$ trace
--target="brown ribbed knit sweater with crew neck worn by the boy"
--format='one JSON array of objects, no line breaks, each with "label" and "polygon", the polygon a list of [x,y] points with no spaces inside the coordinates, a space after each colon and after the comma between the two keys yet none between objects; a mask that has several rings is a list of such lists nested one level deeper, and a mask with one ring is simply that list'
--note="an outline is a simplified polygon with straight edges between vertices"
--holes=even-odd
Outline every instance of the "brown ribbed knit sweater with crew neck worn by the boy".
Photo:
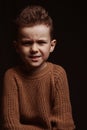
[{"label": "brown ribbed knit sweater with crew neck worn by the boy", "polygon": [[47,62],[32,74],[15,67],[4,76],[2,130],[73,130],[65,70]]}]

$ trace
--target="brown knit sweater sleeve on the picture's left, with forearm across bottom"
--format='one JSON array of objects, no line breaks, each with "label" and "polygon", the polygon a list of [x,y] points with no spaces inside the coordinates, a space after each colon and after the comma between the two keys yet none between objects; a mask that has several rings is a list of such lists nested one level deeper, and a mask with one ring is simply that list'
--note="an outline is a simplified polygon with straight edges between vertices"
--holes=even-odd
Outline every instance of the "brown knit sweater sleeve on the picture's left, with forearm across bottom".
[{"label": "brown knit sweater sleeve on the picture's left, with forearm across bottom", "polygon": [[0,130],[42,130],[20,122],[18,88],[14,74],[7,71],[4,76],[2,98],[2,126]]}]

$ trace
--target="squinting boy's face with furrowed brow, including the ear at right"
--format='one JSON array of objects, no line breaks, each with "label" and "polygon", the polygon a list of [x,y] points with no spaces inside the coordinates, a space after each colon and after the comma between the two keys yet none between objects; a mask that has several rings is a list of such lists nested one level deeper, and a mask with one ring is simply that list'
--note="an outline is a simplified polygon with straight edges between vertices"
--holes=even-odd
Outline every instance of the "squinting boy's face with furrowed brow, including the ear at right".
[{"label": "squinting boy's face with furrowed brow, including the ear at right", "polygon": [[50,28],[46,25],[21,27],[16,50],[28,67],[35,68],[45,64],[55,44],[56,40],[51,41]]}]

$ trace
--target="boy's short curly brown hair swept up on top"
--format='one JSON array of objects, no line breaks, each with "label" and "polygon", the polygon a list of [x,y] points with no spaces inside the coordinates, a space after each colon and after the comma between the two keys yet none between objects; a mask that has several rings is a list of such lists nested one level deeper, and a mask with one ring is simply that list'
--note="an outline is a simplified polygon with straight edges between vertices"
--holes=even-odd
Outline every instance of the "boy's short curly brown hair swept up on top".
[{"label": "boy's short curly brown hair swept up on top", "polygon": [[38,24],[46,25],[50,28],[50,36],[53,38],[53,21],[48,12],[39,5],[31,5],[24,8],[16,18],[16,31],[20,27],[31,27]]}]

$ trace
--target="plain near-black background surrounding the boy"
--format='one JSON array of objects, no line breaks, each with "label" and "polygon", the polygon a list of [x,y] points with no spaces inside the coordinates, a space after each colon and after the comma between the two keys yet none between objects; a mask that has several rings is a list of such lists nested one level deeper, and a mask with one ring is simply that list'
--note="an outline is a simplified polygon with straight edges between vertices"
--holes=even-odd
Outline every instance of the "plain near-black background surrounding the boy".
[{"label": "plain near-black background surrounding the boy", "polygon": [[73,0],[0,1],[0,95],[4,72],[16,63],[12,47],[13,21],[28,4],[44,6],[54,20],[57,39],[49,61],[62,65],[68,76],[76,130],[86,130],[86,3]]}]

